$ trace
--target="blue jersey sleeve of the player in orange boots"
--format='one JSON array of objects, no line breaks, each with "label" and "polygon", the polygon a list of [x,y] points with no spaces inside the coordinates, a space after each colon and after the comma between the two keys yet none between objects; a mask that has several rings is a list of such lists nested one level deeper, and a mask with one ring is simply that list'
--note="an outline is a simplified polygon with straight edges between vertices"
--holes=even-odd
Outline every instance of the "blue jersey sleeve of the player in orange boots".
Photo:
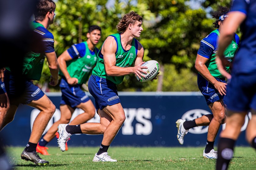
[{"label": "blue jersey sleeve of the player in orange boots", "polygon": [[[85,44],[83,42],[81,42],[79,44],[72,45],[69,49],[67,49],[67,51],[72,59],[78,59],[85,55],[86,47],[85,47]],[[89,51],[90,51],[91,55],[95,54],[94,51],[91,51],[91,50],[89,50]],[[97,51],[98,51],[98,49],[97,49]]]}]

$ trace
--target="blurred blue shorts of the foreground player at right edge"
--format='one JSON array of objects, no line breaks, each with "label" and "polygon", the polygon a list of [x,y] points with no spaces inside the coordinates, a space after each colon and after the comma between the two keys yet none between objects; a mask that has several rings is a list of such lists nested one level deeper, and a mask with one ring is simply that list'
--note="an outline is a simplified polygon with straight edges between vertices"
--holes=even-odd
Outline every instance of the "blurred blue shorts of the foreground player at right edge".
[{"label": "blurred blue shorts of the foreground player at right edge", "polygon": [[256,74],[232,75],[227,88],[227,108],[244,112],[256,110]]}]

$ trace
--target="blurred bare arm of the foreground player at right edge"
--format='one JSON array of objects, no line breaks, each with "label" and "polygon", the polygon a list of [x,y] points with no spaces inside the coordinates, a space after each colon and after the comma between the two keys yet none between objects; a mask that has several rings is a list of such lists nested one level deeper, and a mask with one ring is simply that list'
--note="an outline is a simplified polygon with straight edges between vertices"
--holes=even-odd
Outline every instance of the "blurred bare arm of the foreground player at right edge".
[{"label": "blurred bare arm of the foreground player at right edge", "polygon": [[229,17],[226,19],[219,37],[219,49],[217,52],[216,63],[220,73],[227,79],[230,79],[231,75],[227,73],[224,69],[227,61],[224,58],[223,53],[226,47],[229,45],[230,41],[232,40],[234,32],[236,32],[237,28],[244,21],[245,18],[246,15],[243,12],[229,12]]}]

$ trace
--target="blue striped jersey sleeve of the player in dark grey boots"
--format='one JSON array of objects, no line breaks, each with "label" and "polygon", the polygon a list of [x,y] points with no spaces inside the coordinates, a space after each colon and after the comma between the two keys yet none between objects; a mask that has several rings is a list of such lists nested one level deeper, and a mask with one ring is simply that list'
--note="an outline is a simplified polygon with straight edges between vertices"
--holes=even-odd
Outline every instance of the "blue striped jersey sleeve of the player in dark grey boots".
[{"label": "blue striped jersey sleeve of the player in dark grey boots", "polygon": [[[44,53],[54,52],[54,37],[51,32],[49,32],[46,28],[40,26],[34,29],[34,33],[41,36],[42,43],[44,46]],[[34,50],[32,49],[32,51],[35,53],[39,52],[37,49],[34,49]]]}]

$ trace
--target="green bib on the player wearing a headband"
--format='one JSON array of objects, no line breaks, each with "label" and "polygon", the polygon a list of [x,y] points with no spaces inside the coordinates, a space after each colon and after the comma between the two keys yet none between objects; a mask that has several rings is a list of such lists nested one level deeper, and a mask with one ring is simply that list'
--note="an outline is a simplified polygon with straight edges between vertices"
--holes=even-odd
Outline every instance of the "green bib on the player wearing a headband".
[{"label": "green bib on the player wearing a headband", "polygon": [[[218,36],[220,35],[217,29],[212,32],[215,32]],[[229,73],[230,63],[233,61],[233,57],[237,49],[238,49],[238,45],[236,44],[236,40],[233,38],[232,42],[229,44],[229,46],[227,46],[226,50],[224,51],[225,58],[229,61],[229,65],[226,66],[226,71],[228,73]],[[215,51],[215,53],[212,54],[212,56],[205,63],[205,65],[213,77],[222,78],[223,76],[219,72],[216,61],[215,61],[216,52],[217,51]]]}]

